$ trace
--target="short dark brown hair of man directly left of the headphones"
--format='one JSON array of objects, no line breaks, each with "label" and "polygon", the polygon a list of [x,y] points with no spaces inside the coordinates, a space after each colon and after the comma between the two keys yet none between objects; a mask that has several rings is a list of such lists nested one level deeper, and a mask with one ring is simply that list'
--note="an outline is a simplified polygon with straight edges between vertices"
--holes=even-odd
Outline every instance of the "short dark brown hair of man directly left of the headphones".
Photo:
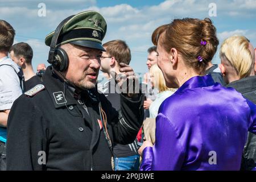
[{"label": "short dark brown hair of man directly left of the headphones", "polygon": [[33,50],[27,43],[16,43],[10,48],[10,52],[13,51],[15,57],[24,57],[27,64],[31,64],[33,58]]}]

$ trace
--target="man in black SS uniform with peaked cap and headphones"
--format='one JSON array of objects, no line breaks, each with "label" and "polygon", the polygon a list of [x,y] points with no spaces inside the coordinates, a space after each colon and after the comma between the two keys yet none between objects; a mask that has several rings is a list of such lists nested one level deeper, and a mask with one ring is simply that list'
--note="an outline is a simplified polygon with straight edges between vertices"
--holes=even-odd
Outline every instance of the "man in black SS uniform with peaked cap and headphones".
[{"label": "man in black SS uniform with peaked cap and headphones", "polygon": [[[118,113],[97,92],[105,34],[105,19],[85,11],[47,35],[52,66],[10,112],[7,170],[112,170],[112,143],[134,141],[143,121],[143,94],[122,93]],[[137,79],[129,66],[122,72],[129,82]]]}]

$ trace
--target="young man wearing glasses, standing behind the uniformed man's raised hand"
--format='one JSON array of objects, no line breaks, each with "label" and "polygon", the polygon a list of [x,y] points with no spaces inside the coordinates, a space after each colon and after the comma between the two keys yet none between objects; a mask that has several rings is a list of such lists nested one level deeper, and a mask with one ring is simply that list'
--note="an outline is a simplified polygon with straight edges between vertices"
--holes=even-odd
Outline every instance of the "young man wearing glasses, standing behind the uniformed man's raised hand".
[{"label": "young man wearing glasses, standing behind the uniformed man's raised hand", "polygon": [[[106,49],[106,52],[102,53],[100,69],[110,77],[104,84],[104,94],[111,102],[112,106],[119,111],[121,109],[120,90],[115,89],[115,80],[110,75],[110,72],[114,71],[121,76],[122,73],[119,70],[121,69],[122,64],[129,65],[131,61],[131,52],[130,48],[123,40],[109,41],[104,43],[103,47]],[[125,145],[114,143],[113,151],[115,155],[115,171],[138,171],[139,154],[137,139],[135,139],[133,143]]]}]

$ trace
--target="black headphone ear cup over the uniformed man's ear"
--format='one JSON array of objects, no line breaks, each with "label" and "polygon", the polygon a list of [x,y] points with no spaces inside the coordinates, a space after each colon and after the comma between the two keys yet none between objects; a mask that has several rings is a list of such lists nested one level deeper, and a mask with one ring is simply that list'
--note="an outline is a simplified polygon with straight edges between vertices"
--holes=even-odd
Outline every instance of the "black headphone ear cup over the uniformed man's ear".
[{"label": "black headphone ear cup over the uniformed man's ear", "polygon": [[65,71],[68,68],[68,55],[67,52],[64,51],[62,48],[56,48],[55,49],[55,55],[54,55],[54,63],[53,67],[59,71]]}]

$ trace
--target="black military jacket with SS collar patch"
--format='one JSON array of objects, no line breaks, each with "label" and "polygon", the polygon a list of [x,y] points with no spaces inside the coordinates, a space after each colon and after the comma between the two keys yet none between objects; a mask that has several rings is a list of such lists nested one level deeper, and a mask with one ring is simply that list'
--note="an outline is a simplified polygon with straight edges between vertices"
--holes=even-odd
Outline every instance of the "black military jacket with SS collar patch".
[{"label": "black military jacket with SS collar patch", "polygon": [[128,144],[143,122],[143,94],[133,99],[121,94],[118,113],[104,94],[85,90],[88,114],[51,67],[43,85],[44,90],[32,97],[23,94],[11,108],[7,170],[112,170],[112,152],[98,120],[102,120],[99,103],[112,143]]}]

